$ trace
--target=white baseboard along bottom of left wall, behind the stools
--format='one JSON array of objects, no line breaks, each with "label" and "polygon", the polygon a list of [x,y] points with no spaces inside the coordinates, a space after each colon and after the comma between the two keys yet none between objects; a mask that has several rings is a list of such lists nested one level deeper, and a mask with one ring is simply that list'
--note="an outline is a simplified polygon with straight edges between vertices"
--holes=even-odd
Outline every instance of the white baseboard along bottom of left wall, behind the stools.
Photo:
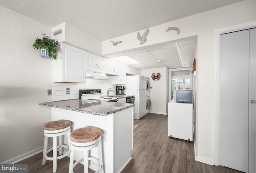
[{"label": "white baseboard along bottom of left wall, behind the stools", "polygon": [[[49,143],[49,144],[48,144],[48,148],[51,147],[51,146],[52,146],[52,144]],[[14,163],[17,163],[17,162],[19,162],[19,161],[22,161],[22,160],[28,158],[28,157],[31,157],[31,156],[33,156],[33,155],[36,155],[36,154],[42,152],[43,149],[44,149],[43,146],[42,146],[42,147],[39,147],[39,148],[37,148],[37,149],[34,149],[34,150],[32,150],[32,151],[29,151],[29,152],[27,152],[27,153],[24,153],[24,154],[22,154],[22,155],[19,155],[19,156],[17,156],[17,157],[14,157],[14,158],[12,158],[12,159],[10,159],[10,160],[4,161],[4,162],[2,162],[1,164],[14,164]]]}]

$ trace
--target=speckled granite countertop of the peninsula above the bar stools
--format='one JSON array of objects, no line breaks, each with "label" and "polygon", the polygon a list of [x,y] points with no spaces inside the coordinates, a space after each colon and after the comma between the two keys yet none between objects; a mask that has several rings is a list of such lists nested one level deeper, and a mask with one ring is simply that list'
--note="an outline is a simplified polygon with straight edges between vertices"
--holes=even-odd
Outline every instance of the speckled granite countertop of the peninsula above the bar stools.
[{"label": "speckled granite countertop of the peninsula above the bar stools", "polygon": [[39,105],[66,109],[70,111],[89,113],[92,115],[105,116],[124,109],[133,107],[131,103],[116,103],[111,101],[88,101],[84,99],[72,99],[39,103]]}]

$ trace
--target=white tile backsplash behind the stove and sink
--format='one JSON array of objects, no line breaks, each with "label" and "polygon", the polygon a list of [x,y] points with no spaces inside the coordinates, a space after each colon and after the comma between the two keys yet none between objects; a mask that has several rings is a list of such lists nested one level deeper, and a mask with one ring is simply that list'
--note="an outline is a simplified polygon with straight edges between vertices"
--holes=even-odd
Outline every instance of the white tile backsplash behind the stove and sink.
[{"label": "white tile backsplash behind the stove and sink", "polygon": [[[67,88],[70,88],[70,94],[66,94]],[[116,91],[116,85],[112,85],[111,76],[104,80],[86,79],[86,83],[53,83],[52,101],[79,99],[79,89],[101,89],[103,96],[107,95],[109,88]],[[116,95],[116,93],[111,91],[109,95]]]}]

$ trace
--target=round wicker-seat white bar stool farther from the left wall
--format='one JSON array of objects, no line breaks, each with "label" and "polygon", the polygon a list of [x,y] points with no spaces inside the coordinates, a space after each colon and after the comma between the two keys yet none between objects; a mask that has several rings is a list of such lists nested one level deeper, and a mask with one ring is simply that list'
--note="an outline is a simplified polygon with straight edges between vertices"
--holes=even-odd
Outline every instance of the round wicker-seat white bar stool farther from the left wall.
[{"label": "round wicker-seat white bar stool farther from the left wall", "polygon": [[[84,127],[72,131],[70,134],[70,163],[69,173],[74,173],[73,169],[78,163],[84,161],[84,173],[88,173],[88,160],[96,161],[98,169],[95,173],[104,173],[102,161],[102,147],[101,147],[101,130],[97,127]],[[88,156],[88,151],[98,147],[98,157]],[[84,151],[84,158],[74,163],[74,150]]]}]

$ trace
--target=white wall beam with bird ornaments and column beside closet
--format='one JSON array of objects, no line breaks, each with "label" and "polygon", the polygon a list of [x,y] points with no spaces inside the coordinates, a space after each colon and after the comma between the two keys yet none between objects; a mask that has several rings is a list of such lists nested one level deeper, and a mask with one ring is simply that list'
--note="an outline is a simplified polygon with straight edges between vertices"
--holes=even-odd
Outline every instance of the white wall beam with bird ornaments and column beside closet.
[{"label": "white wall beam with bird ornaments and column beside closet", "polygon": [[[149,28],[147,42],[139,45],[137,32],[111,40],[123,41],[120,46],[102,42],[102,53],[113,54],[127,49],[153,46],[172,40],[198,36],[196,71],[196,145],[197,159],[212,164],[213,159],[213,77],[214,77],[214,29],[256,20],[256,1],[245,0],[201,14],[182,18]],[[180,28],[180,34],[165,32],[170,27]],[[145,28],[146,30],[146,28]],[[144,32],[145,30],[139,31]]]}]

